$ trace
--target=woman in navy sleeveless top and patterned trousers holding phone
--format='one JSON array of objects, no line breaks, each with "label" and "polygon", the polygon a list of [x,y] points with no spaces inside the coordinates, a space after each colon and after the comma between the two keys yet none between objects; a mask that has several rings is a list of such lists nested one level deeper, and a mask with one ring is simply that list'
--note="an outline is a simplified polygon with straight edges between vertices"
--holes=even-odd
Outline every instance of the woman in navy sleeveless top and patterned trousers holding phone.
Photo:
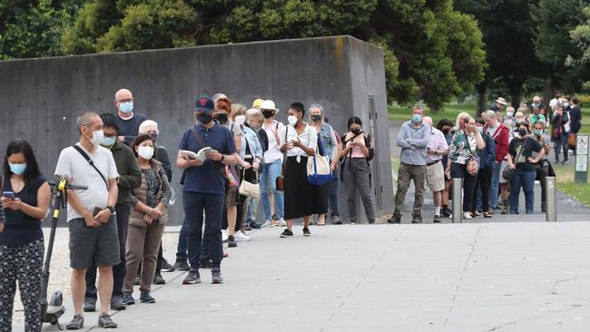
[{"label": "woman in navy sleeveless top and patterned trousers holding phone", "polygon": [[16,140],[8,144],[2,191],[0,200],[5,212],[5,228],[0,231],[0,324],[8,327],[12,324],[18,280],[25,307],[25,331],[40,331],[39,298],[44,254],[41,220],[49,208],[51,190],[39,172],[28,142]]}]

